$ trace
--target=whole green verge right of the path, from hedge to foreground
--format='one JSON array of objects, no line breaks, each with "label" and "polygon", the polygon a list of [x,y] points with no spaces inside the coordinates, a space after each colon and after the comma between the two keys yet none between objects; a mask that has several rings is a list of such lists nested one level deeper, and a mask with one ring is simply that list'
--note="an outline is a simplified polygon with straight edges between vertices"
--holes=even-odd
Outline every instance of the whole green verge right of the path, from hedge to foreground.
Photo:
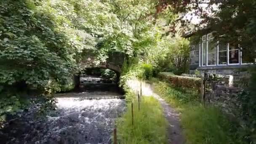
[{"label": "whole green verge right of the path, from hedge to foreground", "polygon": [[153,85],[169,104],[181,112],[187,144],[243,144],[237,139],[234,125],[216,107],[203,107],[191,89],[175,88],[154,80]]}]

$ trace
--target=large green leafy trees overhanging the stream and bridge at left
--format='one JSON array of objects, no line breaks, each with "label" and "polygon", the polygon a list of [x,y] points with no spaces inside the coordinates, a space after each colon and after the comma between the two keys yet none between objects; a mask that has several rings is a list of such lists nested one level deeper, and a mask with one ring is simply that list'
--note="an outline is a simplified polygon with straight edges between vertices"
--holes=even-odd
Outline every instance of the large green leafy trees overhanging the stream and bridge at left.
[{"label": "large green leafy trees overhanging the stream and bridge at left", "polygon": [[53,93],[71,88],[72,75],[80,71],[78,64],[87,49],[96,50],[96,63],[105,61],[111,51],[127,56],[142,53],[155,43],[154,4],[148,0],[2,0],[0,99],[17,102],[1,105],[0,115],[8,109],[17,111],[20,96],[31,89]]}]

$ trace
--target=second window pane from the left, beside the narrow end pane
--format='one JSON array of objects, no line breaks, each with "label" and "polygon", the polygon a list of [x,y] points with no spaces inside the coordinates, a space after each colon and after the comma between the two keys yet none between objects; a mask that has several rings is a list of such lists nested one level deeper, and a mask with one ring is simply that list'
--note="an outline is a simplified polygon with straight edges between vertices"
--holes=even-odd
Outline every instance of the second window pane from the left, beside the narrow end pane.
[{"label": "second window pane from the left, beside the narrow end pane", "polygon": [[213,41],[208,41],[208,65],[216,64],[217,60],[217,47]]}]

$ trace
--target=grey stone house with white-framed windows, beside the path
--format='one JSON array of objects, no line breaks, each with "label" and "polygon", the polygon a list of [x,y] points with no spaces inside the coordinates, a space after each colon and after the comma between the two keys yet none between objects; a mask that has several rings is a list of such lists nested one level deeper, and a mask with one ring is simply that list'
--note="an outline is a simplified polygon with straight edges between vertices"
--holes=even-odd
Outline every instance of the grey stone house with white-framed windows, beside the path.
[{"label": "grey stone house with white-framed windows, beside the path", "polygon": [[[189,39],[192,35],[194,34],[187,33],[183,37]],[[195,74],[197,69],[201,74],[206,72],[229,75],[238,86],[238,83],[244,83],[245,79],[248,79],[246,68],[256,61],[256,59],[248,59],[241,49],[238,45],[221,41],[213,43],[211,33],[203,35],[199,43],[191,45],[189,74]]]}]

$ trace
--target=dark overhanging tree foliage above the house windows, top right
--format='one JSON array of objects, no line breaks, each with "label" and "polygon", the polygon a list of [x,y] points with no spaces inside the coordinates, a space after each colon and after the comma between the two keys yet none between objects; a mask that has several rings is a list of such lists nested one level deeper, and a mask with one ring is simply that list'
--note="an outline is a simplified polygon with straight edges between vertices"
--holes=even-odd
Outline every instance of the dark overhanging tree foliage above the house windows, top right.
[{"label": "dark overhanging tree foliage above the house windows, top right", "polygon": [[[240,45],[246,61],[256,57],[255,0],[161,0],[158,7],[173,7],[179,19],[172,26],[200,35],[213,32],[216,40]],[[173,29],[173,28],[170,28]],[[170,31],[172,32],[172,31]]]}]

